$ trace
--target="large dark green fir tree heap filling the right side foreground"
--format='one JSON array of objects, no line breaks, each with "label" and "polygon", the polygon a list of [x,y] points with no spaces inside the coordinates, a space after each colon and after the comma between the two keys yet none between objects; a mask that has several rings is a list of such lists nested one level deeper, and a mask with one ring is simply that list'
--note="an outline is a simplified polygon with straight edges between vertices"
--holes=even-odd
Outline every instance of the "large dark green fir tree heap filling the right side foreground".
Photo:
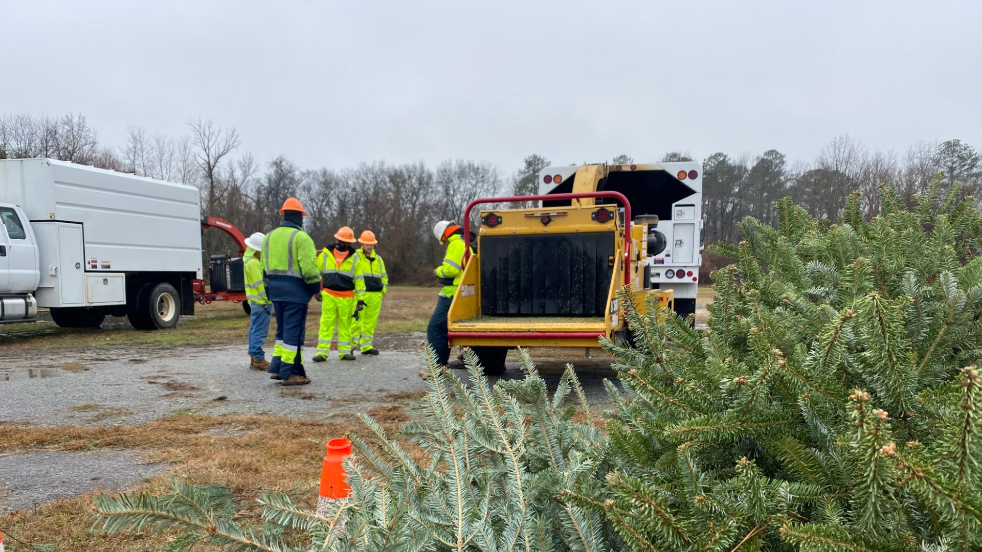
[{"label": "large dark green fir tree heap filling the right side foreground", "polygon": [[977,549],[980,214],[938,190],[831,226],[783,199],[718,248],[708,329],[628,310],[616,467],[578,501],[634,550]]}]

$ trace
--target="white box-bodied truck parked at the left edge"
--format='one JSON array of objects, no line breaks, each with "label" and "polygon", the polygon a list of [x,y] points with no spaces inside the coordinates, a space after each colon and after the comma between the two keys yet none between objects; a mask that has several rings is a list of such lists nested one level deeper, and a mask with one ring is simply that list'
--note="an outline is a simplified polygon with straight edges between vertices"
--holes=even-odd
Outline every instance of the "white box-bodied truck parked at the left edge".
[{"label": "white box-bodied truck parked at the left edge", "polygon": [[0,160],[0,323],[47,307],[59,326],[128,316],[168,328],[194,313],[198,191],[52,159]]}]

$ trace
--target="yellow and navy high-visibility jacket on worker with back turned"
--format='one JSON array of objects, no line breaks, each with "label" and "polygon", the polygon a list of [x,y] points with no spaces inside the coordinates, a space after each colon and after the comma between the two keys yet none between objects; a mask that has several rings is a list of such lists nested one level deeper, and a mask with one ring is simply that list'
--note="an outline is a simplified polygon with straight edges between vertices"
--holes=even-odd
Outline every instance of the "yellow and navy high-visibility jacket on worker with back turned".
[{"label": "yellow and navy high-visibility jacket on worker with back turned", "polygon": [[320,290],[317,248],[296,224],[283,225],[266,234],[259,257],[271,301],[308,303]]}]

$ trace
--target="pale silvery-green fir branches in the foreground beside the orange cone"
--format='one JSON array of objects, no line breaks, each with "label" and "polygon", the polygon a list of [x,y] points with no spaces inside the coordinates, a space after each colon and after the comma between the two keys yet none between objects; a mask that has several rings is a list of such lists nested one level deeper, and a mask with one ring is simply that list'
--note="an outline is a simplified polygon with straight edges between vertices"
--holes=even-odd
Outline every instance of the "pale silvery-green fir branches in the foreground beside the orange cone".
[{"label": "pale silvery-green fir branches in the foreground beside the orange cone", "polygon": [[[464,356],[469,382],[438,365],[432,351],[425,362],[432,374],[425,418],[400,429],[403,439],[396,440],[361,416],[377,438],[369,443],[352,436],[355,454],[346,460],[352,496],[332,516],[264,493],[264,524],[245,528],[232,518],[227,489],[174,479],[163,496],[99,495],[102,528],[177,529],[173,550],[199,543],[276,552],[618,549],[620,538],[602,513],[564,491],[601,493],[601,474],[609,469],[606,437],[592,423],[572,366],[550,396],[524,352],[525,377],[494,385],[472,353]],[[422,454],[401,442],[414,443]]]}]

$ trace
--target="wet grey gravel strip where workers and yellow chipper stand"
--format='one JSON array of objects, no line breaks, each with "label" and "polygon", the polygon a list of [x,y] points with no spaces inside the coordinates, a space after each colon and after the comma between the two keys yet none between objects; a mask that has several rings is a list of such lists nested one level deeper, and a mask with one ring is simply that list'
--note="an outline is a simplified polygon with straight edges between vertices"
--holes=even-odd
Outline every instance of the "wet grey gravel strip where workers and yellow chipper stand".
[{"label": "wet grey gravel strip where workers and yellow chipper stand", "polygon": [[[309,385],[284,388],[251,371],[242,346],[172,348],[99,346],[78,351],[12,352],[0,368],[0,421],[37,425],[136,424],[167,414],[277,414],[329,417],[361,413],[425,391],[412,349],[421,336],[390,338],[383,353],[307,363]],[[393,349],[402,349],[393,350]],[[591,401],[604,402],[609,360],[574,361]],[[552,385],[567,359],[540,357]],[[461,372],[464,373],[464,372]],[[517,362],[504,377],[521,377]]]}]

